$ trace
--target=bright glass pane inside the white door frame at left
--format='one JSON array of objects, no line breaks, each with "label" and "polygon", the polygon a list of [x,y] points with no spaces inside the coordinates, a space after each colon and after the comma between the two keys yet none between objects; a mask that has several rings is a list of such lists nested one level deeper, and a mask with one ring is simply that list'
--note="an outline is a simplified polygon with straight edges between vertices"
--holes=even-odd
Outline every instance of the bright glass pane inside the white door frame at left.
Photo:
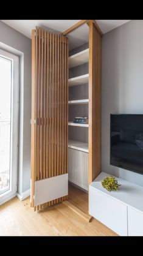
[{"label": "bright glass pane inside the white door frame at left", "polygon": [[0,56],[0,194],[10,188],[12,61]]}]

